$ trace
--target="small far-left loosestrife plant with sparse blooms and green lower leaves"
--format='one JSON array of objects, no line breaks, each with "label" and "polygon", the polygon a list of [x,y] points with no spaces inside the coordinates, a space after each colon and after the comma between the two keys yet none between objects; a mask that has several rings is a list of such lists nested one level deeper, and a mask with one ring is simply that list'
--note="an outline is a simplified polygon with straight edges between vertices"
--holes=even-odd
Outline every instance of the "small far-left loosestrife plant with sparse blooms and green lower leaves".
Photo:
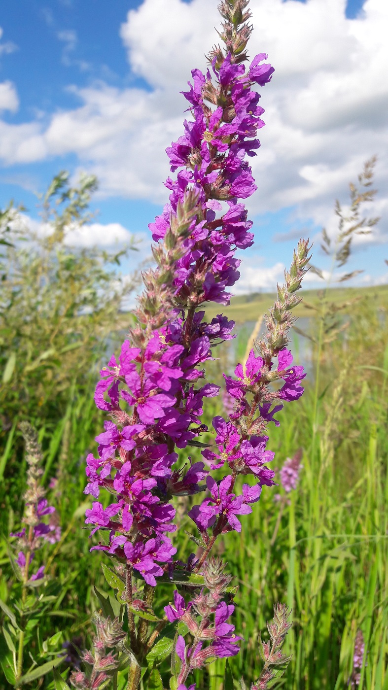
[{"label": "small far-left loosestrife plant with sparse blooms and green lower leaves", "polygon": [[[39,650],[36,649],[36,640],[32,643],[34,628],[39,628],[39,618],[46,613],[48,602],[57,598],[51,594],[46,565],[41,561],[47,551],[44,546],[55,544],[59,540],[61,528],[55,508],[48,504],[46,490],[41,484],[43,456],[37,432],[28,422],[21,422],[20,428],[26,444],[27,489],[23,495],[21,525],[18,531],[10,533],[9,556],[14,578],[9,583],[7,604],[0,600],[0,607],[6,614],[3,635],[10,652],[4,655],[1,665],[10,687],[19,687],[40,678],[64,660],[64,656],[58,656],[55,649],[49,649],[52,644],[57,647],[57,635],[45,640],[43,647],[39,643]],[[44,596],[41,589],[43,586]],[[31,649],[36,653],[35,659],[31,655]],[[53,653],[57,656],[52,664],[41,663],[45,656],[51,660]],[[35,667],[32,677],[29,672],[23,673],[25,658],[28,659],[28,667],[31,660]]]}]

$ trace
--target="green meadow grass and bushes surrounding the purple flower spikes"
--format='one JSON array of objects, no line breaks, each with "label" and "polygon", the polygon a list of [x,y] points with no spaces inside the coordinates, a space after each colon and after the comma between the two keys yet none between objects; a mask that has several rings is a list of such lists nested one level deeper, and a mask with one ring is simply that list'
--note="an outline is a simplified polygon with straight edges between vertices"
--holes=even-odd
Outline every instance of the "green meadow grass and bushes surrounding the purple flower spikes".
[{"label": "green meadow grass and bushes surrounding the purple flower spikes", "polygon": [[[90,617],[101,607],[95,587],[107,591],[101,570],[104,556],[88,552],[90,540],[83,529],[85,509],[91,504],[83,493],[85,458],[95,451],[94,438],[104,420],[93,404],[99,364],[133,322],[132,315],[119,311],[132,285],[117,282],[117,274],[108,268],[109,262],[119,262],[118,255],[75,250],[64,242],[69,218],[81,223],[87,219],[95,181],[84,178],[71,188],[66,176],[58,176],[53,184],[43,199],[52,228],[45,237],[16,230],[14,213],[3,214],[0,687],[13,685],[8,611],[21,589],[8,558],[9,535],[20,522],[26,490],[21,421],[37,428],[43,481],[62,530],[54,547],[44,547],[48,577],[28,617],[25,673],[33,675],[34,664],[58,660],[66,650],[58,669],[68,678],[68,669],[79,664],[78,650],[88,647]],[[286,494],[282,486],[264,486],[253,515],[242,518],[242,533],[230,533],[217,544],[217,552],[235,574],[236,627],[244,635],[240,654],[230,660],[231,670],[233,678],[244,673],[247,684],[257,678],[258,634],[266,639],[265,622],[271,618],[273,602],[280,601],[292,609],[293,619],[287,640],[292,659],[282,687],[347,687],[360,630],[365,663],[359,687],[387,690],[387,286],[339,287],[325,293],[331,303],[348,305],[340,324],[331,329],[334,337],[327,338],[322,313],[306,306],[322,304],[322,293],[303,290],[302,295],[305,304],[295,315],[310,317],[304,328],[311,353],[305,393],[292,410],[284,409],[269,442],[278,469],[301,449],[298,487]],[[225,313],[240,324],[256,321],[272,302],[271,295],[235,297]],[[297,348],[302,337],[293,336]],[[246,340],[246,329],[240,328],[233,342],[236,362],[244,358]],[[230,352],[225,345],[220,359],[211,363],[209,379],[222,384],[221,372],[227,368]],[[223,413],[222,400],[208,400],[208,426],[213,415]],[[204,434],[203,440],[211,441],[211,434]],[[180,452],[185,457],[186,451]],[[191,449],[191,455],[200,460],[200,449]],[[195,497],[177,499],[180,529],[172,538],[180,542],[180,553],[192,550],[185,529],[193,501]],[[170,595],[166,586],[164,604]],[[113,604],[114,598],[109,601]],[[159,670],[167,687],[164,663]],[[197,687],[221,690],[224,668],[225,660],[208,666],[205,675],[195,679]],[[57,688],[58,678],[55,681],[50,672],[27,679],[26,685]],[[119,673],[117,687],[125,682]]]}]

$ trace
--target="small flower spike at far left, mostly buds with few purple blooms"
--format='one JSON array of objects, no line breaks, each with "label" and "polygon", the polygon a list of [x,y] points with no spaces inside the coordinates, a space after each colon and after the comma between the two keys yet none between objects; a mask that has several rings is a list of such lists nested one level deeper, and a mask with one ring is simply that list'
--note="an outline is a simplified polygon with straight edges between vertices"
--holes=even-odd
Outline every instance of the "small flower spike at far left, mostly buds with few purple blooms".
[{"label": "small flower spike at far left, mostly buds with few purple blooms", "polygon": [[[48,505],[45,498],[46,491],[41,486],[43,471],[39,466],[42,455],[35,429],[28,422],[21,422],[21,432],[26,442],[27,489],[23,498],[25,501],[23,524],[18,532],[12,532],[11,537],[17,537],[20,549],[16,564],[19,566],[23,582],[41,580],[45,566],[41,565],[35,573],[30,574],[30,563],[35,552],[44,542],[55,544],[61,535],[61,528],[57,525],[55,508]],[[45,518],[50,515],[48,522]]]}]

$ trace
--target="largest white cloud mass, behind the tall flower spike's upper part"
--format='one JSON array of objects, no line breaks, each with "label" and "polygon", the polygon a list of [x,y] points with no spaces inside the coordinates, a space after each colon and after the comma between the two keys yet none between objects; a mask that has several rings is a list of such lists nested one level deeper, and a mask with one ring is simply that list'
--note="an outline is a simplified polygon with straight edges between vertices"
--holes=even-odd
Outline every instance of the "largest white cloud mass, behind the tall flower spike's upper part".
[{"label": "largest white cloud mass, behind the tall flower spike's upper part", "polygon": [[[295,218],[330,224],[333,198],[375,152],[382,204],[388,188],[388,3],[367,0],[358,19],[345,0],[251,0],[255,31],[250,54],[263,50],[275,66],[262,89],[266,127],[253,159],[258,192],[251,213],[297,206]],[[72,87],[80,105],[48,124],[0,123],[5,164],[75,152],[99,175],[101,193],[163,201],[168,174],[164,149],[182,132],[179,91],[216,41],[214,0],[144,0],[121,28],[132,71],[153,90],[104,82]],[[173,17],[173,21],[172,18]],[[68,50],[77,37],[62,32]],[[374,209],[371,207],[372,213]],[[382,228],[382,229],[381,229]],[[375,237],[385,237],[385,226]]]}]

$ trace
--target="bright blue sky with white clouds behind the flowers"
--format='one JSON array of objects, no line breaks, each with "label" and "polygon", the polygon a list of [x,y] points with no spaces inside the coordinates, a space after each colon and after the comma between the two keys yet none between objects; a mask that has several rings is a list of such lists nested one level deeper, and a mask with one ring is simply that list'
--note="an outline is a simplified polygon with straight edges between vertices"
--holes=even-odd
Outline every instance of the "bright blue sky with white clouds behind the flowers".
[{"label": "bright blue sky with white clouds behind the flowers", "polygon": [[[206,47],[215,40],[216,5],[3,3],[1,206],[12,197],[36,218],[34,192],[44,190],[52,175],[64,168],[72,175],[97,172],[93,208],[99,215],[86,242],[94,237],[106,244],[109,235],[122,241],[128,231],[143,239],[146,255],[147,224],[167,199],[164,148],[182,128],[179,91],[190,69],[204,66]],[[262,92],[266,128],[253,166],[259,190],[249,203],[256,244],[242,264],[242,291],[273,287],[298,233],[318,237],[322,225],[334,232],[333,200],[346,202],[347,184],[363,160],[379,152],[380,190],[388,177],[387,88],[377,73],[379,59],[381,72],[387,57],[385,0],[252,0],[251,6],[260,26],[252,55],[266,50],[276,71]],[[376,237],[362,239],[351,263],[365,268],[364,284],[388,281],[382,262],[382,255],[388,258],[388,204],[384,194],[378,198],[370,209],[382,215]],[[315,261],[324,265],[318,250]]]}]

